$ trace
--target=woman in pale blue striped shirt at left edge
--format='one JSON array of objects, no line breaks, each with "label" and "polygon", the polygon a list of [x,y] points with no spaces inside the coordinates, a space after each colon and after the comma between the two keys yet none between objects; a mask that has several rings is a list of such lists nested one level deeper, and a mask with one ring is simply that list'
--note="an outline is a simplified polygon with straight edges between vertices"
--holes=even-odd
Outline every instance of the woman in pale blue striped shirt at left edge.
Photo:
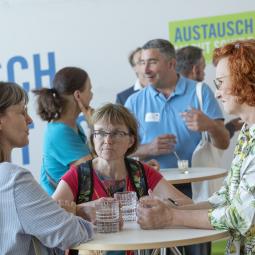
[{"label": "woman in pale blue striped shirt at left edge", "polygon": [[[0,254],[50,254],[93,237],[91,223],[61,209],[32,174],[10,162],[14,148],[28,144],[27,95],[17,84],[0,82]],[[39,241],[39,242],[38,242]]]}]

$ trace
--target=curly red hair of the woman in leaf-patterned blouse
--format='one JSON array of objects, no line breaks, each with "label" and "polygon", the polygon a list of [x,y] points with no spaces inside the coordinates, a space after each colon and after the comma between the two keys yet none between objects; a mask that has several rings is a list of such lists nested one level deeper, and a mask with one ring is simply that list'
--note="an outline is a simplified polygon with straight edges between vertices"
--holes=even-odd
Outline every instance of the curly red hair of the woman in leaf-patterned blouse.
[{"label": "curly red hair of the woman in leaf-patterned blouse", "polygon": [[238,40],[216,48],[213,64],[216,66],[222,58],[228,59],[231,94],[239,104],[255,106],[255,40]]}]

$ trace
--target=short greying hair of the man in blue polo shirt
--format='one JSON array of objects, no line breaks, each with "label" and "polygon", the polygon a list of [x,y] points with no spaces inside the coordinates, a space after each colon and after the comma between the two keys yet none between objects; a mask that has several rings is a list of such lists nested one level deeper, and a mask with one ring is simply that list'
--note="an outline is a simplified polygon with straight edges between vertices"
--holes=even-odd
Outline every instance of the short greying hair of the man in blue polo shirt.
[{"label": "short greying hair of the man in blue polo shirt", "polygon": [[164,39],[153,39],[145,43],[142,47],[143,50],[158,49],[161,54],[166,58],[176,58],[175,49],[172,43]]}]

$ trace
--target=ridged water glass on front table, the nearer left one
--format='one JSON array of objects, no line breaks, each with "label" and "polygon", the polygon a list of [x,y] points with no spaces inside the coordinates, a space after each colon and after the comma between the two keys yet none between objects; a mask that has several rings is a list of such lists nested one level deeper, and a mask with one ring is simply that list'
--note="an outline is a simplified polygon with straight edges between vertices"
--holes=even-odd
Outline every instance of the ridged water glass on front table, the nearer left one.
[{"label": "ridged water glass on front table, the nearer left one", "polygon": [[104,198],[95,204],[96,226],[99,233],[120,231],[120,203],[113,198]]}]

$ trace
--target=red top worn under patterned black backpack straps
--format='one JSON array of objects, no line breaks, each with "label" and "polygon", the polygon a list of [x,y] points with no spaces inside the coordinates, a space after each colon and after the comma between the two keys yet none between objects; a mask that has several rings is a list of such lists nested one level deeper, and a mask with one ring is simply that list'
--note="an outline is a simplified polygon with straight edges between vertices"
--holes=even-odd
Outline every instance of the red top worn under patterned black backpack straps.
[{"label": "red top worn under patterned black backpack straps", "polygon": [[[153,190],[158,182],[163,178],[162,175],[156,171],[154,168],[146,165],[143,163],[144,172],[148,184],[148,189]],[[72,165],[71,168],[66,172],[66,174],[62,177],[62,180],[65,181],[70,189],[72,190],[74,200],[77,199],[78,193],[78,171],[75,165]],[[93,194],[92,200],[96,200],[100,197],[108,197],[103,184],[101,183],[100,179],[98,178],[95,170],[93,169]],[[127,191],[135,191],[129,176],[126,177],[126,190]]]}]

